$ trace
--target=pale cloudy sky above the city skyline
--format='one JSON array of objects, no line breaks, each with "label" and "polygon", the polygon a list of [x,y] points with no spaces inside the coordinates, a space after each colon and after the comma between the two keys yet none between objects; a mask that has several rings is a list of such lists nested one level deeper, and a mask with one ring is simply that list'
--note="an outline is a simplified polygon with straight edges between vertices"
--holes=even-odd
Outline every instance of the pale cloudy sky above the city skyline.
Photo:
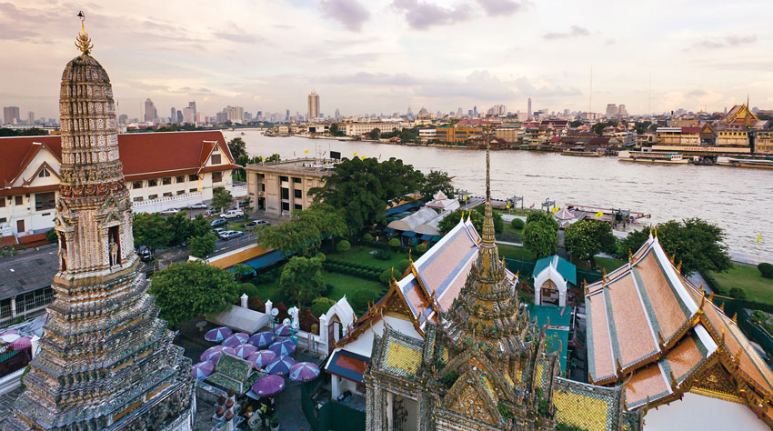
[{"label": "pale cloudy sky above the city skyline", "polygon": [[[58,116],[86,15],[118,111],[432,112],[477,105],[646,114],[773,108],[769,0],[0,0],[0,105]],[[650,97],[651,83],[651,97]]]}]

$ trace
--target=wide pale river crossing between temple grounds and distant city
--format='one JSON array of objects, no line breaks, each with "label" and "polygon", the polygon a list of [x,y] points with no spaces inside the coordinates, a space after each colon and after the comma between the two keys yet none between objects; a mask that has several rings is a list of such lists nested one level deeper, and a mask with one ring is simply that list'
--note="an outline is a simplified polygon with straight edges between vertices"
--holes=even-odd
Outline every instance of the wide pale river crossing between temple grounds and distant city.
[{"label": "wide pale river crossing between temple grounds and distant city", "polygon": [[[328,150],[345,157],[355,152],[381,160],[397,157],[425,173],[447,171],[456,187],[473,195],[485,193],[483,151],[267,137],[256,130],[224,131],[224,135],[226,140],[242,137],[250,155],[278,153],[283,160],[322,152],[327,156]],[[549,197],[557,205],[628,209],[651,214],[654,223],[700,217],[725,229],[731,250],[773,256],[773,217],[768,214],[773,210],[773,170],[650,165],[619,162],[616,157],[505,150],[491,153],[491,193],[496,198],[522,195],[526,206],[537,208]],[[759,234],[762,239],[757,244]]]}]

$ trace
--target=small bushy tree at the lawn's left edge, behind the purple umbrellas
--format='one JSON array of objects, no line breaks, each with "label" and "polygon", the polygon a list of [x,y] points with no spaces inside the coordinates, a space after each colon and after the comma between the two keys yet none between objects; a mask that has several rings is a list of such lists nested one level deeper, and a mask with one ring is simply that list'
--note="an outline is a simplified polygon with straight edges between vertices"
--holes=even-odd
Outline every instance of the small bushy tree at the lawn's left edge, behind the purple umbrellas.
[{"label": "small bushy tree at the lawn's left edge, behind the purple umbrellas", "polygon": [[286,263],[279,277],[279,290],[300,306],[307,306],[325,292],[322,260],[317,257],[295,256]]}]

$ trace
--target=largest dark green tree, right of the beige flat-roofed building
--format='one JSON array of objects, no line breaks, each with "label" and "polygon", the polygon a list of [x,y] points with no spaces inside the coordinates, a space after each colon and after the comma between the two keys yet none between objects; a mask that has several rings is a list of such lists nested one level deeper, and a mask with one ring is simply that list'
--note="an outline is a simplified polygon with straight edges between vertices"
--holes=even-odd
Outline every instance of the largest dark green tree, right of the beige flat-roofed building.
[{"label": "largest dark green tree, right of the beige flat-roofed building", "polygon": [[424,175],[402,160],[345,158],[336,164],[323,187],[309,190],[316,201],[340,209],[356,232],[376,223],[386,225],[386,205],[417,191]]}]

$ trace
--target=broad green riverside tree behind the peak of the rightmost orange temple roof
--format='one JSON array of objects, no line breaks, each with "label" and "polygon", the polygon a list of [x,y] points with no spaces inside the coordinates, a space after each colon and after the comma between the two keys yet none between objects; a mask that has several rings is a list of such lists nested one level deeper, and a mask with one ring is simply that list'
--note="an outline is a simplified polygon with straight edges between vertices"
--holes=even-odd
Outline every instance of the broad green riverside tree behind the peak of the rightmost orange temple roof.
[{"label": "broad green riverside tree behind the peak of the rightmost orange temple roof", "polygon": [[[657,226],[658,241],[675,263],[682,263],[681,272],[689,276],[694,272],[723,272],[731,267],[728,246],[725,245],[725,232],[721,227],[712,225],[700,218],[688,218],[677,222],[670,220]],[[635,252],[649,236],[642,229],[628,234],[621,248]],[[623,251],[623,250],[621,250]]]}]

